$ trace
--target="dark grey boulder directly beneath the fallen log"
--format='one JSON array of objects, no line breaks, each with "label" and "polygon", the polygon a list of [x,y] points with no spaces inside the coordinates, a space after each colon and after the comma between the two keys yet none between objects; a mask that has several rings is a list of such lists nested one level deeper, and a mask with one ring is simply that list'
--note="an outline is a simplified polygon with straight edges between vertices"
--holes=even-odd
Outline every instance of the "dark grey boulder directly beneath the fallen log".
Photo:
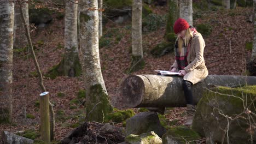
[{"label": "dark grey boulder directly beneath the fallen log", "polygon": [[126,119],[126,136],[130,134],[140,135],[154,131],[160,137],[166,132],[166,129],[160,124],[156,112],[141,112]]}]

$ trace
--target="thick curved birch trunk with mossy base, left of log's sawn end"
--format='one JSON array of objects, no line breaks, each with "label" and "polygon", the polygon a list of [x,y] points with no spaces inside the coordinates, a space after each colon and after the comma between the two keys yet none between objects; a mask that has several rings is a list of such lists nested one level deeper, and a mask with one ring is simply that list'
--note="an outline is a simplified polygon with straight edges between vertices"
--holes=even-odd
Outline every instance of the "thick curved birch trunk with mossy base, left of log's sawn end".
[{"label": "thick curved birch trunk with mossy base, left of log's sawn end", "polygon": [[86,89],[86,118],[102,122],[103,117],[113,111],[101,73],[98,49],[98,8],[97,0],[85,0],[88,8],[80,12],[80,47],[82,69]]}]

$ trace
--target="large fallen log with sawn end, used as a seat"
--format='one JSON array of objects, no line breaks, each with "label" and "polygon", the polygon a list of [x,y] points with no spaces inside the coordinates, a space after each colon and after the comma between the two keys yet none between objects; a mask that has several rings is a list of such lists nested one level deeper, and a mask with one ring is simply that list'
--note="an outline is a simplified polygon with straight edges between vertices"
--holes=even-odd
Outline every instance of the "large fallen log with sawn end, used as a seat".
[{"label": "large fallen log with sawn end, used as a seat", "polygon": [[[183,78],[165,75],[130,75],[121,83],[112,105],[118,109],[132,107],[184,107]],[[215,86],[239,87],[256,85],[255,76],[208,75],[192,86],[195,104],[203,91]]]}]

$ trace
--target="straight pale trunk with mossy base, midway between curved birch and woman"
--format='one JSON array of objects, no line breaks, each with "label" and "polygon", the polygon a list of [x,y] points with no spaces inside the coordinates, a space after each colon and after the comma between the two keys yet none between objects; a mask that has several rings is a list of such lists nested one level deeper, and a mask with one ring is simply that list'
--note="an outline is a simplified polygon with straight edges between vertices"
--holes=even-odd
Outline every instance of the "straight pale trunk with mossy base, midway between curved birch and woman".
[{"label": "straight pale trunk with mossy base, midway between curved birch and woman", "polygon": [[129,73],[144,67],[142,48],[142,0],[132,2],[132,63]]}]

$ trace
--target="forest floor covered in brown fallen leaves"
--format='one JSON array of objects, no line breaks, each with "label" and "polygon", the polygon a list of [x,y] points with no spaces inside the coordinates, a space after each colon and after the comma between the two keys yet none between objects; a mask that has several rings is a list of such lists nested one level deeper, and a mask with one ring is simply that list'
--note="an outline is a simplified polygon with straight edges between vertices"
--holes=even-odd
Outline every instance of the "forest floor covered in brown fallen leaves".
[{"label": "forest floor covered in brown fallen leaves", "polygon": [[[156,14],[165,14],[167,6],[157,6]],[[203,35],[206,47],[204,57],[209,75],[244,75],[246,59],[251,51],[245,49],[246,43],[253,40],[253,23],[248,22],[253,14],[252,8],[220,9],[206,11],[200,18],[194,20],[194,25],[208,23],[213,27],[212,33]],[[111,99],[117,92],[121,80],[127,76],[125,70],[131,64],[131,30],[126,29],[131,22],[117,24],[108,22],[103,34],[118,29],[119,41],[110,41],[110,45],[100,49],[103,79]],[[64,19],[54,19],[50,25],[38,28],[31,35],[36,46],[38,63],[43,74],[61,61],[64,53]],[[154,70],[167,70],[174,62],[174,53],[155,58],[150,54],[157,44],[164,41],[166,26],[157,31],[143,33],[143,53],[146,65],[144,69],[132,74],[156,74]],[[113,37],[117,33],[114,33]],[[113,39],[114,39],[113,38]],[[13,123],[0,124],[0,131],[20,131],[39,128],[38,100],[41,93],[38,77],[35,73],[33,59],[27,52],[15,52],[13,56]],[[82,76],[59,76],[51,80],[44,77],[44,85],[54,103],[56,112],[55,139],[62,139],[76,127],[79,119],[74,118],[84,113],[84,105],[79,101],[75,109],[71,109],[71,101],[77,98],[78,91],[84,89]],[[133,109],[136,112],[136,109]],[[182,125],[185,108],[168,109],[164,115],[172,125]],[[27,116],[25,117],[25,113]],[[28,116],[28,114],[30,116]],[[118,127],[122,124],[115,123]]]}]

